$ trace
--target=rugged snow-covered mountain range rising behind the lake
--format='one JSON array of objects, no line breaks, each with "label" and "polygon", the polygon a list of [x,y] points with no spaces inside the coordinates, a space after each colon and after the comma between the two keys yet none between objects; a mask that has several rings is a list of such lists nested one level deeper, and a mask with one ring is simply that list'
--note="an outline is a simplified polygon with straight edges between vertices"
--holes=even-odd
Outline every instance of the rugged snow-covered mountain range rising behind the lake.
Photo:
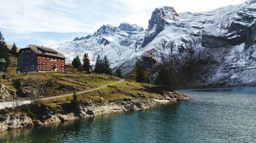
[{"label": "rugged snow-covered mountain range rising behind the lake", "polygon": [[125,75],[141,55],[158,63],[172,58],[185,87],[255,85],[255,20],[255,0],[197,13],[161,7],[152,13],[147,30],[124,22],[103,25],[93,35],[50,47],[69,62],[86,52],[93,64],[98,54],[106,55],[111,67]]}]

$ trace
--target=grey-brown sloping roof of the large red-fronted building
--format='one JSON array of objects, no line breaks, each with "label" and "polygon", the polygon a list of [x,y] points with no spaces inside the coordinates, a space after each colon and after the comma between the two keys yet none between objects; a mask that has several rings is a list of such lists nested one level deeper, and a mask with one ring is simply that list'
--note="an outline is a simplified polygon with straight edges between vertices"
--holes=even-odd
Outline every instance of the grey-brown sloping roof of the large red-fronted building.
[{"label": "grey-brown sloping roof of the large red-fronted building", "polygon": [[[29,45],[25,48],[22,48],[19,50],[18,54],[23,51],[24,49],[28,49],[30,48],[31,50],[33,50],[34,52],[38,53],[38,54],[42,54],[42,55],[50,55],[50,56],[57,56],[60,58],[66,58],[66,56],[64,56],[63,54],[61,54],[60,52],[52,49],[52,48],[47,48],[47,47],[43,47],[43,46],[37,46],[37,45]],[[54,53],[54,54],[52,54]]]}]

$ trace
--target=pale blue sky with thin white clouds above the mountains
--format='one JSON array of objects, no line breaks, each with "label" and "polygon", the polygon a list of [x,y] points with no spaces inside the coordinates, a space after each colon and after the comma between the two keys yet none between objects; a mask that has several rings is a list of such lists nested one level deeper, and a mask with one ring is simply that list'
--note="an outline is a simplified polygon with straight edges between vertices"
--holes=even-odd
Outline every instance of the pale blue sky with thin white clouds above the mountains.
[{"label": "pale blue sky with thin white clouds above the mountains", "polygon": [[49,46],[93,34],[121,22],[147,28],[155,8],[209,11],[245,0],[0,0],[0,31],[7,44]]}]

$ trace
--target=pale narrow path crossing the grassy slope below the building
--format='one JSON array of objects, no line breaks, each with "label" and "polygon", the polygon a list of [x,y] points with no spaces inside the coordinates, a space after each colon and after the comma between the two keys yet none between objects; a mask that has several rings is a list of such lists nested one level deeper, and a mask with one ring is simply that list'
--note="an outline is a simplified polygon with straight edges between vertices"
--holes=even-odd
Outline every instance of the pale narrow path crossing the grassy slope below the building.
[{"label": "pale narrow path crossing the grassy slope below the building", "polygon": [[[98,88],[94,88],[94,89],[90,89],[90,90],[86,90],[86,91],[80,91],[80,92],[77,92],[76,94],[82,94],[82,93],[88,93],[88,92],[92,92],[92,91],[97,91],[97,90],[100,90],[100,89],[104,89],[104,88],[108,87],[109,85],[115,85],[115,84],[121,83],[123,81],[124,81],[124,79],[119,80],[119,81],[114,82],[114,83],[111,83],[111,84],[102,85],[102,86],[100,86]],[[73,95],[73,93],[63,94],[63,95],[58,95],[58,96],[53,96],[53,97],[41,98],[41,100],[50,100],[50,99],[55,99],[55,98],[60,98],[60,97],[67,97],[67,96],[72,96],[72,95]],[[22,105],[22,104],[30,103],[30,100],[14,101],[14,102],[18,102],[18,105]],[[10,102],[0,102],[0,109],[7,108],[7,107],[14,107],[13,101],[10,101]]]}]

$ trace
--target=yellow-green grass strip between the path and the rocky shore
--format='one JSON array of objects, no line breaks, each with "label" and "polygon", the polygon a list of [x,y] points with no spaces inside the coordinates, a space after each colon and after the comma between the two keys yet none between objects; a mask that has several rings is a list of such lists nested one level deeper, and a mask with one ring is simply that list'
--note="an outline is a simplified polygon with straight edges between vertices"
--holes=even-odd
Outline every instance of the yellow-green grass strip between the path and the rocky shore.
[{"label": "yellow-green grass strip between the path and the rocky shore", "polygon": [[[160,94],[147,91],[145,87],[154,87],[154,85],[146,83],[137,83],[132,81],[123,81],[110,87],[101,90],[79,94],[78,99],[83,101],[92,100],[94,105],[100,105],[100,98],[104,101],[116,102],[129,99],[151,99],[160,97]],[[143,95],[143,97],[139,96]],[[62,97],[53,100],[46,100],[45,104],[52,107],[62,108],[63,105],[70,103],[72,97]]]}]

